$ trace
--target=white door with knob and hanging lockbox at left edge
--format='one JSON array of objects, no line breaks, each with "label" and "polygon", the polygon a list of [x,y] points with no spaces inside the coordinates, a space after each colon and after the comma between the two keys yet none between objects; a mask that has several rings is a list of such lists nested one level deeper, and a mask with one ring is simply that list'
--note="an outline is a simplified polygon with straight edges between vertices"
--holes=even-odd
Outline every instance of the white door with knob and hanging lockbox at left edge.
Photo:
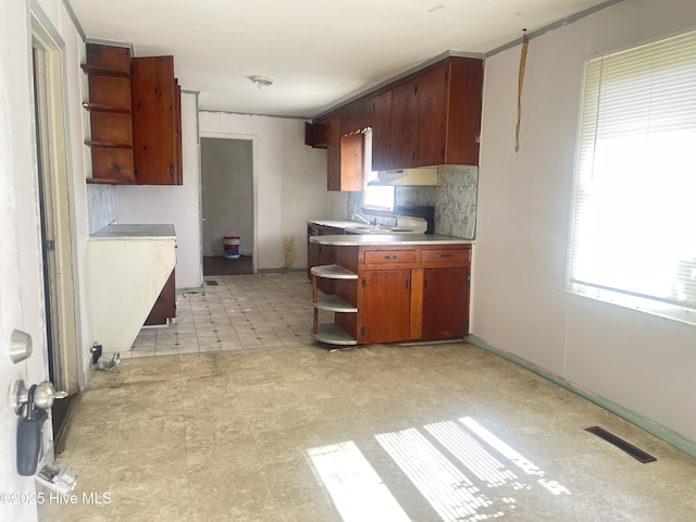
[{"label": "white door with knob and hanging lockbox at left edge", "polygon": [[[14,4],[14,5],[11,5]],[[27,42],[2,48],[0,60],[0,520],[32,521],[36,505],[22,502],[21,494],[35,492],[33,477],[16,472],[18,417],[10,390],[18,378],[27,383],[47,377],[44,353],[46,322],[41,319],[42,285],[37,224],[36,170],[32,139],[28,27],[16,2],[0,0],[5,38]],[[23,96],[22,96],[23,95]],[[12,103],[9,103],[12,99]],[[17,364],[10,359],[12,332],[32,335],[32,357]],[[8,496],[10,495],[10,496]],[[15,495],[15,496],[12,496]]]}]

